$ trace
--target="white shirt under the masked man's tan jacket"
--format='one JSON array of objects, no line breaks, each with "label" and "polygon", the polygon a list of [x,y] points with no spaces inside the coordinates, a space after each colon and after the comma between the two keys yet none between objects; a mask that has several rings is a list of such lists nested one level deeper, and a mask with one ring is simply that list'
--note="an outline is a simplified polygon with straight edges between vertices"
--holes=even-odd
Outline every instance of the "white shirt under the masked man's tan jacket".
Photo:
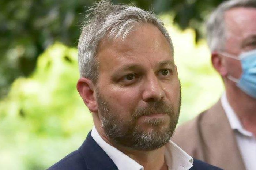
[{"label": "white shirt under the masked man's tan jacket", "polygon": [[227,101],[226,93],[222,95],[221,103],[229,120],[230,126],[235,133],[238,148],[240,150],[242,159],[244,160],[246,170],[256,170],[255,136],[253,136],[251,132],[244,129],[236,113]]}]

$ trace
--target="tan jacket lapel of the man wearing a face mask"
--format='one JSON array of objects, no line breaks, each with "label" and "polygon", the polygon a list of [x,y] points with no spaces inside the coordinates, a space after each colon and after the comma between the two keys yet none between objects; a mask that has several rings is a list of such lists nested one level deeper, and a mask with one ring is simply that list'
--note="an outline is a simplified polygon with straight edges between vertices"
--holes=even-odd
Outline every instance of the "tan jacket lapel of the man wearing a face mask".
[{"label": "tan jacket lapel of the man wearing a face mask", "polygon": [[[203,114],[200,131],[205,161],[225,170],[244,170],[245,166],[225,111],[218,101],[207,114]],[[226,168],[225,165],[227,165]],[[224,166],[224,167],[223,167]]]}]

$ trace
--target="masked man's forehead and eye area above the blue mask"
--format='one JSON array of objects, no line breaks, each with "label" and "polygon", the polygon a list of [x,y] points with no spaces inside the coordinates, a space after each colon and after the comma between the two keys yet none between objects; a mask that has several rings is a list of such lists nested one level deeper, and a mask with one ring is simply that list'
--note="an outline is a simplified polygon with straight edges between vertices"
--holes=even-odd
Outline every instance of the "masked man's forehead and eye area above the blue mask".
[{"label": "masked man's forehead and eye area above the blue mask", "polygon": [[249,50],[256,40],[256,8],[237,7],[227,10],[225,19],[225,48],[239,54]]}]

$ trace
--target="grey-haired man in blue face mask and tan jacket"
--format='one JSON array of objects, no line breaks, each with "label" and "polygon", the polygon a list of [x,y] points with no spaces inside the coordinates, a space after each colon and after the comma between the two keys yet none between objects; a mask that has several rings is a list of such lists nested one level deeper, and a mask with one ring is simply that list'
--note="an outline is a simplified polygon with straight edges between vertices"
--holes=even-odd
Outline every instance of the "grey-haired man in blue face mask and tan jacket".
[{"label": "grey-haired man in blue face mask and tan jacket", "polygon": [[225,170],[256,170],[256,1],[219,5],[207,22],[207,38],[226,91],[209,110],[178,127],[172,140]]}]

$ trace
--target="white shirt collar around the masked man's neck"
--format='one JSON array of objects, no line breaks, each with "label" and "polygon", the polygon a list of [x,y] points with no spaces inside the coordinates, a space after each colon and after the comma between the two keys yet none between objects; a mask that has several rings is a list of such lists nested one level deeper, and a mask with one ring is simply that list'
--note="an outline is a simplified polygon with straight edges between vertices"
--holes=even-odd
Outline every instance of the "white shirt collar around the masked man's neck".
[{"label": "white shirt collar around the masked man's neck", "polygon": [[233,130],[237,130],[242,135],[252,137],[253,134],[242,126],[240,120],[238,119],[236,113],[234,112],[233,108],[230,106],[229,102],[227,101],[226,93],[223,93],[221,97],[221,104],[223,109],[225,110],[227,119],[229,120],[229,124]]}]

